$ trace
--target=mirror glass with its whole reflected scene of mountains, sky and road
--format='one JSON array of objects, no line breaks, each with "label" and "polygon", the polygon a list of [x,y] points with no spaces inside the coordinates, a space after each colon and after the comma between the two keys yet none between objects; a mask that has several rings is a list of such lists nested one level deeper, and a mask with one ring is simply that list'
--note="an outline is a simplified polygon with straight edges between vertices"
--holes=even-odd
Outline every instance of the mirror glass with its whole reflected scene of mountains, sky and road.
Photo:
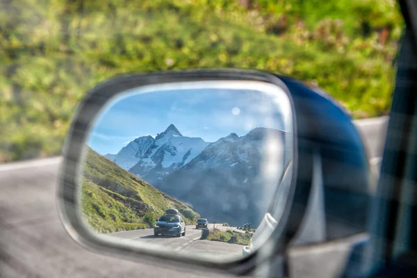
[{"label": "mirror glass with its whole reflected scene of mountains, sky and road", "polygon": [[156,251],[243,256],[293,159],[291,115],[281,88],[254,81],[118,95],[86,142],[85,222]]}]

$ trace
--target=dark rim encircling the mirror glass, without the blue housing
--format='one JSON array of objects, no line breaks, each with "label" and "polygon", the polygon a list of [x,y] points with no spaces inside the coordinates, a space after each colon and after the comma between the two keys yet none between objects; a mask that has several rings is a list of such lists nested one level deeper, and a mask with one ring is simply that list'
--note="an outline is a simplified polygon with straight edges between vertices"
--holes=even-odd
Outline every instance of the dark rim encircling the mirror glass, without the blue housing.
[{"label": "dark rim encircling the mirror glass, without the blue housing", "polygon": [[[286,85],[282,83],[277,76],[264,72],[254,72],[250,70],[191,70],[183,72],[158,72],[150,74],[136,74],[129,76],[116,76],[115,78],[100,83],[90,90],[85,96],[77,109],[76,115],[70,126],[70,132],[67,136],[65,147],[63,149],[63,164],[61,165],[59,188],[58,188],[58,211],[60,218],[64,223],[67,232],[76,240],[76,242],[87,247],[90,250],[101,252],[115,252],[127,256],[131,259],[161,259],[164,263],[190,263],[202,268],[211,270],[227,271],[234,274],[243,274],[253,270],[256,264],[259,264],[260,258],[258,252],[245,256],[238,261],[227,263],[213,263],[201,259],[186,258],[180,256],[171,256],[158,252],[146,252],[137,250],[135,247],[122,246],[109,243],[101,238],[94,236],[91,231],[85,228],[83,220],[79,217],[79,165],[83,159],[83,143],[85,142],[90,125],[101,111],[101,108],[113,97],[126,90],[140,88],[145,85],[155,85],[162,83],[177,83],[190,81],[260,81],[277,85],[286,92],[288,99],[291,101],[291,94]],[[292,104],[292,103],[291,103]],[[293,111],[293,123],[296,118]],[[294,138],[294,161],[297,161],[297,144],[296,128],[293,126]],[[296,170],[293,172],[295,180]],[[295,188],[292,186],[291,188]],[[293,191],[293,190],[291,190]],[[288,195],[288,203],[291,204],[291,193]],[[281,227],[285,227],[283,222],[290,217],[291,206],[286,206],[283,217],[280,219]],[[284,232],[281,231],[281,232]],[[275,235],[276,237],[277,235]],[[278,246],[278,245],[277,245]],[[283,246],[278,248],[284,252]],[[133,255],[133,256],[132,256]],[[264,258],[266,259],[266,258]]]}]

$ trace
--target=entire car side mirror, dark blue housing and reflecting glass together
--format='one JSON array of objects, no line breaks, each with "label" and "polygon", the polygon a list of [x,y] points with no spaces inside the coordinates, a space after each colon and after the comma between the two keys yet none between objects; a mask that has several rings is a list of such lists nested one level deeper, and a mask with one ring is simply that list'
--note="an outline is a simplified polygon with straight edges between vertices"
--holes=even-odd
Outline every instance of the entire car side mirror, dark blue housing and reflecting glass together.
[{"label": "entire car side mirror, dark blue housing and reflecting glass together", "polygon": [[[352,118],[325,92],[247,70],[138,74],[79,105],[58,204],[68,233],[94,250],[245,274],[294,246],[366,231],[368,174]],[[200,239],[149,224],[167,207],[230,227]],[[256,231],[233,228],[245,223]],[[123,240],[126,229],[140,236]],[[179,252],[174,236],[191,244]],[[227,252],[201,252],[208,245]]]}]

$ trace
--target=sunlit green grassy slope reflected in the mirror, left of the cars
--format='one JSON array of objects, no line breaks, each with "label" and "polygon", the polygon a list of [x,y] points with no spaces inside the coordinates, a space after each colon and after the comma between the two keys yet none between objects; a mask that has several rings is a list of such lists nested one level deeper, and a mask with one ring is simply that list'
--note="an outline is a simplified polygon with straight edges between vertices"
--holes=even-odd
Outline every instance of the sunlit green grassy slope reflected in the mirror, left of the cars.
[{"label": "sunlit green grassy slope reflected in the mirror, left of the cars", "polygon": [[87,148],[83,167],[82,207],[85,217],[101,233],[152,227],[167,208],[177,208],[186,224],[199,214],[149,183]]}]

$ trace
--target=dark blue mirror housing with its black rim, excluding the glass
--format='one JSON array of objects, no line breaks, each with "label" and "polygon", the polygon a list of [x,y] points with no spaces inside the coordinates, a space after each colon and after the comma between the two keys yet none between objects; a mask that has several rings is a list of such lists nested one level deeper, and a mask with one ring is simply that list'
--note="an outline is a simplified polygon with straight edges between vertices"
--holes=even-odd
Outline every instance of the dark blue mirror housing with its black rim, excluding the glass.
[{"label": "dark blue mirror housing with its black rim, excluding the glass", "polygon": [[[295,154],[288,198],[272,202],[269,213],[256,231],[271,229],[269,246],[254,248],[238,261],[213,263],[193,257],[171,256],[155,250],[103,240],[86,229],[79,212],[79,165],[83,144],[92,120],[120,92],[153,84],[188,81],[261,81],[284,90],[293,105]],[[285,76],[247,70],[195,70],[120,76],[93,88],[80,104],[64,149],[58,206],[69,234],[96,251],[115,252],[131,258],[163,259],[170,263],[193,264],[212,270],[244,274],[260,264],[277,261],[288,247],[323,243],[366,231],[369,181],[366,151],[350,115],[320,90]],[[284,202],[284,203],[283,203]],[[274,204],[285,204],[279,217]],[[343,204],[343,206],[341,206]],[[255,227],[254,227],[255,228]],[[273,244],[272,244],[273,243]],[[283,262],[283,260],[281,260]],[[281,268],[283,269],[283,268]]]}]

